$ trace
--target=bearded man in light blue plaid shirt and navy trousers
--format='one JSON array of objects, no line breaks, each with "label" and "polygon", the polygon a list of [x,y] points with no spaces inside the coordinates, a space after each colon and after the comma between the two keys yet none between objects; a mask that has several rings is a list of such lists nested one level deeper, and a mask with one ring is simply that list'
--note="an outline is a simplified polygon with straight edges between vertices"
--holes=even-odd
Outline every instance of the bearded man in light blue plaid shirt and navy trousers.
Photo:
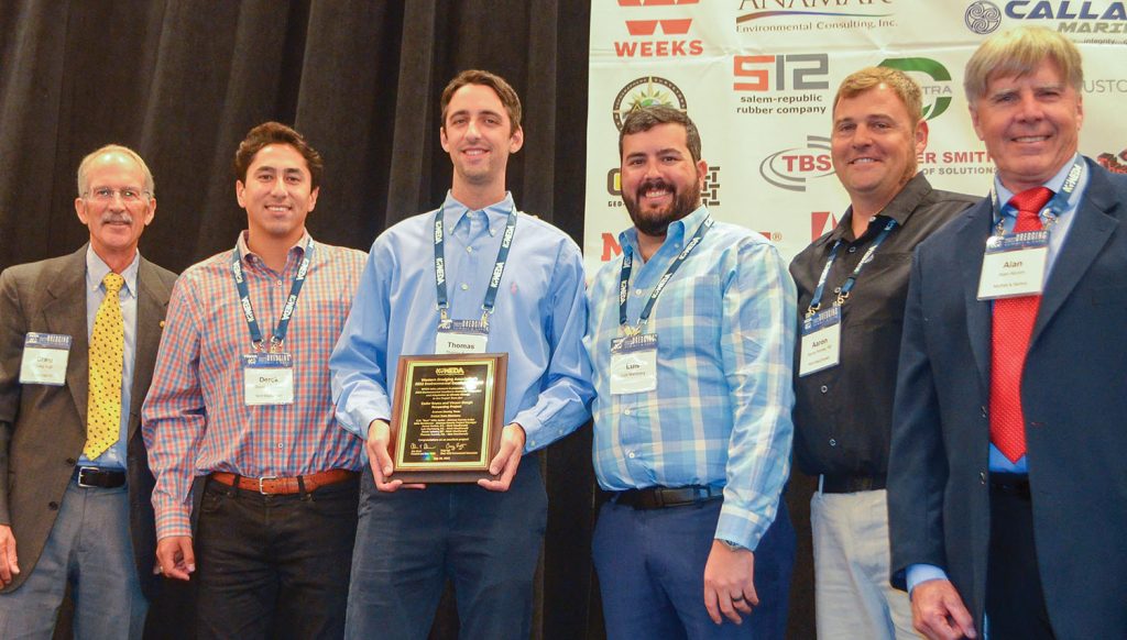
[{"label": "bearded man in light blue plaid shirt and navy trousers", "polygon": [[782,638],[795,285],[761,234],[709,215],[687,115],[632,112],[619,152],[635,226],[592,283],[586,338],[607,635]]}]

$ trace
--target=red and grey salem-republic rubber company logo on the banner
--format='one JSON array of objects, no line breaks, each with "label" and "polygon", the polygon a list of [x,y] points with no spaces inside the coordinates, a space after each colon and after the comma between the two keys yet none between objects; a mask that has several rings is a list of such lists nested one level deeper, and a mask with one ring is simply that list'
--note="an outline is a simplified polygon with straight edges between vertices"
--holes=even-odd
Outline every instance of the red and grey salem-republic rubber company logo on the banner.
[{"label": "red and grey salem-republic rubber company logo on the banner", "polygon": [[736,55],[733,57],[739,96],[737,114],[825,114],[824,91],[829,89],[829,56],[825,53]]}]

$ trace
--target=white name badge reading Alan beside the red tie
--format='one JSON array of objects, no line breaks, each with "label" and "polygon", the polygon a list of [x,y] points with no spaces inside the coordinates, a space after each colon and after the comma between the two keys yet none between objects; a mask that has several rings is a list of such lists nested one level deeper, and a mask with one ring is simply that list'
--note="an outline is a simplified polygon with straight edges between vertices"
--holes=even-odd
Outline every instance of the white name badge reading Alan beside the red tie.
[{"label": "white name badge reading Alan beside the red tie", "polygon": [[991,235],[978,278],[978,300],[1039,295],[1048,265],[1048,231]]}]

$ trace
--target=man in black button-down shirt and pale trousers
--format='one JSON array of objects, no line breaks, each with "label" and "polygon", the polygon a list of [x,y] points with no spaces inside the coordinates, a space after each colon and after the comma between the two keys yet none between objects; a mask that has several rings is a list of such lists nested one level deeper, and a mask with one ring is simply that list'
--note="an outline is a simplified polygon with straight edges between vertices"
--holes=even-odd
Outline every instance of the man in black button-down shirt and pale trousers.
[{"label": "man in black button-down shirt and pale trousers", "polygon": [[[885,472],[912,249],[974,198],[916,174],[928,144],[920,88],[862,69],[837,90],[832,155],[850,207],[790,266],[801,339],[795,452],[818,475],[810,503],[819,638],[912,638],[888,583]],[[827,268],[828,267],[828,268]]]}]

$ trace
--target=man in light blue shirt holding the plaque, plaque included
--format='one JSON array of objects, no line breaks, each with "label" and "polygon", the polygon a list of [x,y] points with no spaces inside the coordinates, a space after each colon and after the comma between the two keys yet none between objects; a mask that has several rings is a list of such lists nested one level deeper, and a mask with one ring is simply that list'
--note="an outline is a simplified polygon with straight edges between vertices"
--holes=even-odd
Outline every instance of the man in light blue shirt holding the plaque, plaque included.
[{"label": "man in light blue shirt holding the plaque, plaque included", "polygon": [[[350,638],[426,638],[447,578],[463,637],[529,637],[548,506],[529,454],[582,425],[593,394],[579,248],[505,190],[524,142],[516,92],[464,71],[441,105],[446,201],[375,239],[329,363],[337,417],[372,468]],[[427,461],[425,485],[399,478]]]}]

